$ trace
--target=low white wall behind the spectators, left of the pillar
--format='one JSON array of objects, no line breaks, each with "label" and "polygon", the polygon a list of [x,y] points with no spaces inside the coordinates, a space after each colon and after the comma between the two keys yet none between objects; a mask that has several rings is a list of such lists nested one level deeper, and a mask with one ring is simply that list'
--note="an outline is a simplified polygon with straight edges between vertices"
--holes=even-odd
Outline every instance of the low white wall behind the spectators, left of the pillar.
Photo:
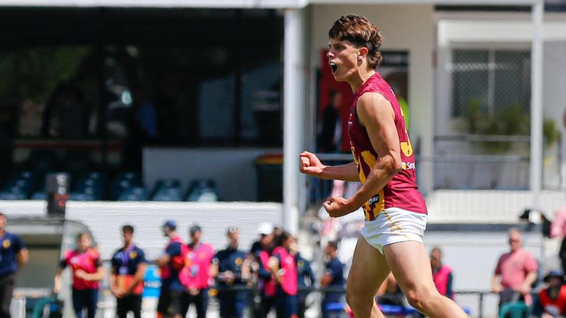
[{"label": "low white wall behind the spectators, left of the pillar", "polygon": [[[8,215],[8,220],[44,218],[43,203],[0,201],[0,211]],[[81,222],[89,228],[104,259],[109,259],[122,244],[122,226],[133,225],[136,229],[134,241],[145,250],[148,259],[156,259],[167,243],[161,233],[161,225],[165,220],[177,222],[177,231],[184,240],[189,239],[190,225],[201,225],[203,241],[212,243],[217,249],[227,244],[226,229],[238,226],[241,230],[240,247],[247,250],[258,238],[256,229],[259,223],[282,225],[282,211],[280,203],[70,201],[67,202],[65,218]]]}]

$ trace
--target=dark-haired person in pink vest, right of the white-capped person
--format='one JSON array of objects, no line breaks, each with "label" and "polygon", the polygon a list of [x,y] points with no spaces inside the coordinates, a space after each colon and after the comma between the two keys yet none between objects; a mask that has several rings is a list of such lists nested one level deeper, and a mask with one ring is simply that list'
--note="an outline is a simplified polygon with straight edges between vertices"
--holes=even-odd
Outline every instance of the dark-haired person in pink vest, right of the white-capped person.
[{"label": "dark-haired person in pink vest, right of the white-capped person", "polygon": [[275,238],[275,249],[268,260],[273,280],[277,283],[275,308],[277,318],[297,317],[298,275],[295,257],[291,255],[293,236],[282,232]]}]

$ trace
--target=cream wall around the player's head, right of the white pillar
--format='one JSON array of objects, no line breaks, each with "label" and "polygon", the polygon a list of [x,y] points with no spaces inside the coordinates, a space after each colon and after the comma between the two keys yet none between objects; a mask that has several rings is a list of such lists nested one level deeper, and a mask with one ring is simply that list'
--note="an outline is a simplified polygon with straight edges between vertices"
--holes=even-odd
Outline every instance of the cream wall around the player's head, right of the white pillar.
[{"label": "cream wall around the player's head, right of the white pillar", "polygon": [[[413,144],[420,142],[421,154],[430,156],[433,149],[434,6],[313,5],[310,13],[310,65],[313,76],[321,63],[320,52],[328,45],[328,29],[340,15],[365,15],[382,31],[383,50],[409,51],[409,134]],[[429,181],[432,181],[430,176],[430,171],[419,170],[419,183],[423,190],[429,188]]]}]

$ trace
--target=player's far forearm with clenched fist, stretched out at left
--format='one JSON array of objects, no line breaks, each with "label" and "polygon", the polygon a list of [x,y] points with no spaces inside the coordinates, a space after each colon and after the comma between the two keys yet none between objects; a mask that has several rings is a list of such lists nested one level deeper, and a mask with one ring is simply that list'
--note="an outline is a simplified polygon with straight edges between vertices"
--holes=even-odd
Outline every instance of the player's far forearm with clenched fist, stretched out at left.
[{"label": "player's far forearm with clenched fist, stretched out at left", "polygon": [[360,181],[358,170],[354,162],[350,162],[346,165],[327,166],[322,164],[317,155],[308,151],[300,153],[299,160],[299,171],[303,174],[316,176],[319,179]]}]

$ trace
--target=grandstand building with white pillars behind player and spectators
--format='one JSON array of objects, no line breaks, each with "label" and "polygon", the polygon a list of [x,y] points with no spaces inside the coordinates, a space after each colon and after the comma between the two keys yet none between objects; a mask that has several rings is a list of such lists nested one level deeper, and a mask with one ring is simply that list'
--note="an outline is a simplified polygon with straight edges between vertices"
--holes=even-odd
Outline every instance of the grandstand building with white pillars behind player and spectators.
[{"label": "grandstand building with white pillars behind player and spectators", "polygon": [[[48,176],[59,174],[69,181],[64,219],[87,227],[104,259],[126,222],[157,258],[170,218],[185,239],[202,225],[217,249],[228,225],[247,248],[257,225],[273,222],[319,257],[317,212],[333,183],[299,176],[293,158],[317,150],[328,91],[349,96],[329,77],[327,29],[361,13],[382,29],[382,75],[406,101],[426,244],[446,251],[472,317],[491,317],[510,227],[525,230],[544,271],[558,267],[559,242],[518,218],[534,209],[552,219],[566,206],[566,3],[547,1],[543,21],[542,2],[1,1],[0,211],[18,220],[14,231],[62,231],[45,204]],[[518,128],[470,128],[502,118]],[[340,153],[321,158],[349,160],[345,131]],[[34,262],[47,236],[30,232]],[[59,257],[57,242],[47,259]],[[346,237],[341,249],[347,261]],[[50,284],[55,265],[47,271],[38,282]]]}]

